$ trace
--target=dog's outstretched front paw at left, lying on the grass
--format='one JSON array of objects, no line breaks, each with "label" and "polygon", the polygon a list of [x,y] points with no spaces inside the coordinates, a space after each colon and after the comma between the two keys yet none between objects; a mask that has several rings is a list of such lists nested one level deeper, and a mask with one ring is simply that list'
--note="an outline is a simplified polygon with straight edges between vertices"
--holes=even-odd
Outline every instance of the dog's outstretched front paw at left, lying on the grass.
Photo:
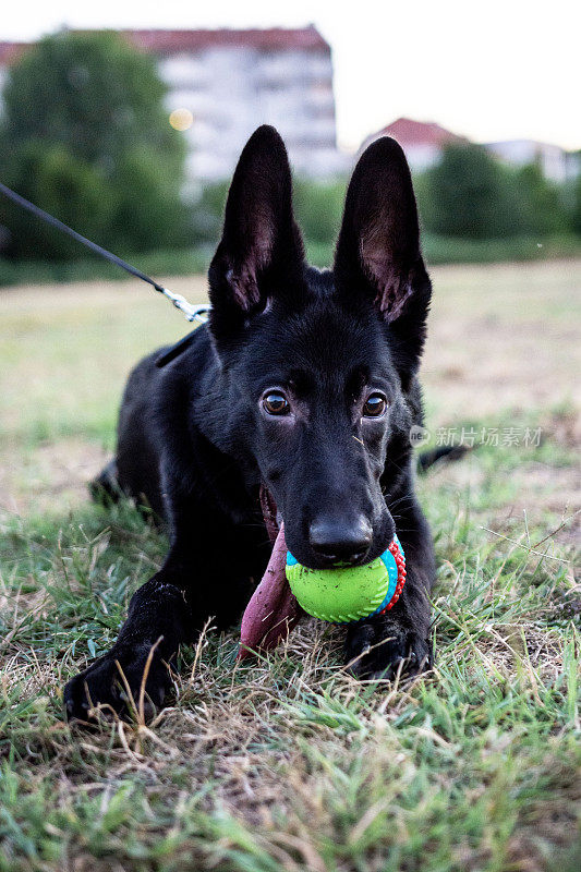
[{"label": "dog's outstretched front paw at left, lying on the grass", "polygon": [[150,719],[170,690],[171,674],[168,664],[154,652],[146,675],[149,651],[148,646],[112,649],[72,678],[64,688],[68,719],[95,724],[99,714],[110,719],[116,714],[133,718],[142,713],[145,719]]}]

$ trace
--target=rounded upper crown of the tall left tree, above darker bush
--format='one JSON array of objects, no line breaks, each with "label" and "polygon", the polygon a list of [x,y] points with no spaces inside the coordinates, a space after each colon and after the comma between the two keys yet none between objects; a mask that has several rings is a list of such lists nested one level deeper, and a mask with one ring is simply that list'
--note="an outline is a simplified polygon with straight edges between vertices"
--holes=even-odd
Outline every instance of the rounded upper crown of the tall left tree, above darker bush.
[{"label": "rounded upper crown of the tall left tree, above darker bush", "polygon": [[152,58],[117,34],[63,32],[23,56],[3,100],[14,140],[48,135],[77,158],[107,166],[128,147],[172,147],[165,92]]}]

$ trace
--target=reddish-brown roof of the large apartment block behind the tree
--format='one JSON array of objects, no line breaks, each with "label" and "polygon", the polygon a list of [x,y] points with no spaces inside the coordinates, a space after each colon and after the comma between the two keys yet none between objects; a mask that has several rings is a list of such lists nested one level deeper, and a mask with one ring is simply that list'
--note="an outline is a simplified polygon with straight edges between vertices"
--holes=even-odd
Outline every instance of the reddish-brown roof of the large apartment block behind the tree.
[{"label": "reddish-brown roof of the large apartment block behind the tree", "polygon": [[[258,51],[322,51],[330,52],[329,44],[317,28],[270,27],[246,31],[121,31],[144,51],[154,55],[177,55],[182,51],[201,51],[218,46],[254,48]],[[0,43],[0,65],[8,65],[20,57],[28,43]]]}]

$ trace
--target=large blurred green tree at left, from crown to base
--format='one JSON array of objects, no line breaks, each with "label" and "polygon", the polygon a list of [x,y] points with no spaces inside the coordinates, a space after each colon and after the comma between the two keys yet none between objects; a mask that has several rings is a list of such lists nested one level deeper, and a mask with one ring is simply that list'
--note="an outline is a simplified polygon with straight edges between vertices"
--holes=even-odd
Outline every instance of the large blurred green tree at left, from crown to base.
[{"label": "large blurred green tree at left, from crown to base", "polygon": [[[59,33],[26,51],[3,93],[2,179],[118,251],[186,243],[185,147],[154,60],[120,35]],[[14,256],[78,257],[78,246],[0,205]]]}]

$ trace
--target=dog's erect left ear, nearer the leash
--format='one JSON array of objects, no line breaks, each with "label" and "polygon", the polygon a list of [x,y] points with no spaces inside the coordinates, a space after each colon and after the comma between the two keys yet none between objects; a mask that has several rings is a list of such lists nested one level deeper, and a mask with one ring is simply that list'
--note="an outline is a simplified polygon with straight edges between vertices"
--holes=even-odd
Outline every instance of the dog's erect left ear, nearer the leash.
[{"label": "dog's erect left ear, nearer the leash", "polygon": [[234,327],[273,294],[302,283],[303,263],[287,149],[265,124],[244,146],[228,193],[222,238],[209,269],[213,331]]}]

